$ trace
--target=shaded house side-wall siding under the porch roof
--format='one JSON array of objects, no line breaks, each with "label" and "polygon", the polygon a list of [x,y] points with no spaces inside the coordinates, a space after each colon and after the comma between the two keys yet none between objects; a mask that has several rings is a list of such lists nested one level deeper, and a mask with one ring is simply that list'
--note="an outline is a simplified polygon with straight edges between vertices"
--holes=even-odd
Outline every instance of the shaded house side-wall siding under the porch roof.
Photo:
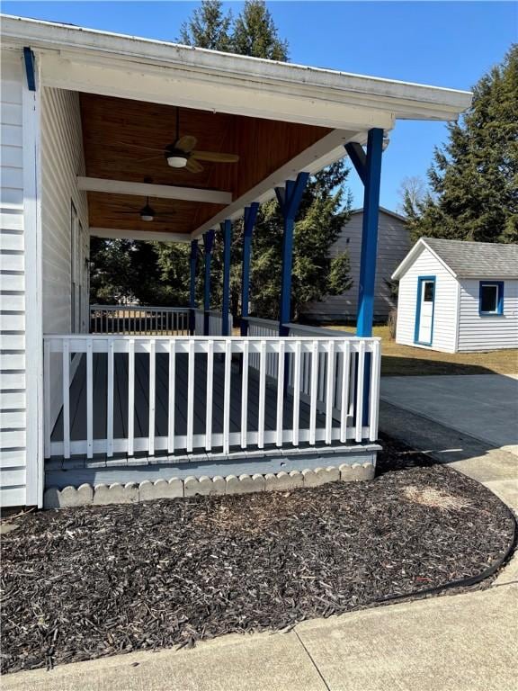
[{"label": "shaded house side-wall siding under the porch roof", "polygon": [[[89,254],[88,206],[77,190],[77,175],[85,175],[79,95],[44,87],[41,94],[41,224],[43,242],[43,331],[67,334],[72,327],[72,205],[81,233],[76,247],[76,283],[81,291],[79,331],[88,330]],[[78,305],[77,305],[78,308]],[[77,309],[76,308],[76,309]],[[58,368],[50,382],[51,424],[58,417]]]}]

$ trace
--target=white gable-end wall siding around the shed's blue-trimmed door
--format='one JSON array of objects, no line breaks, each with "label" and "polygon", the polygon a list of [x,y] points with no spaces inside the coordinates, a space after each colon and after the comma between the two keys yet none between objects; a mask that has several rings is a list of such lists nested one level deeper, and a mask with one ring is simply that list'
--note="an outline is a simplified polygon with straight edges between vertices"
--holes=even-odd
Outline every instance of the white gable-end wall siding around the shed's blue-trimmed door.
[{"label": "white gable-end wall siding around the shed's blue-trimmed door", "polygon": [[397,343],[415,346],[417,279],[435,276],[433,342],[430,350],[455,351],[458,314],[458,283],[429,250],[424,249],[399,281],[397,297]]}]

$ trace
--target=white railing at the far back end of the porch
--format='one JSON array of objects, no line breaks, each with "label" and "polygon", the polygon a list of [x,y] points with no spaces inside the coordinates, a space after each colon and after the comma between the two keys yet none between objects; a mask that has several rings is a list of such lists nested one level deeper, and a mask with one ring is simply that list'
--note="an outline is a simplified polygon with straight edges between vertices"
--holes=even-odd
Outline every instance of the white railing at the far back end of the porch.
[{"label": "white railing at the far back end of the porch", "polygon": [[189,336],[189,308],[90,305],[90,333]]}]

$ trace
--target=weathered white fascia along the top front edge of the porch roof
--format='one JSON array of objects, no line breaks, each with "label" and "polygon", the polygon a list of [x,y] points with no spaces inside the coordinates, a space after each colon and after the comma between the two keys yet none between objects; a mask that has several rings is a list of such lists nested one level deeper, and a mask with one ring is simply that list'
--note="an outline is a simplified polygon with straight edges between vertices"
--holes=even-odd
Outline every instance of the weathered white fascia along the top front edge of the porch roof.
[{"label": "weathered white fascia along the top front edge of the porch roof", "polygon": [[[306,100],[307,107],[308,104],[312,106],[313,101],[335,102],[393,113],[396,118],[402,119],[455,120],[460,112],[469,107],[472,98],[469,92],[455,89],[248,58],[17,17],[4,16],[2,40],[4,45],[10,43],[31,45],[33,49],[54,49],[62,56],[69,53],[69,57],[77,63],[85,63],[88,56],[95,57],[100,67],[126,63],[125,68],[132,76],[136,73],[143,75],[156,68],[161,70],[162,77],[166,69],[171,73],[183,71],[189,73],[191,81],[196,81],[198,76],[219,86],[234,84],[244,91],[252,88],[267,91],[270,95],[293,92]],[[134,86],[138,88],[138,85]],[[273,112],[276,108],[274,104]],[[265,110],[272,113],[271,109]],[[263,117],[268,115],[263,114]],[[273,117],[273,113],[270,117]],[[318,124],[325,126],[323,121]],[[345,128],[348,124],[343,120],[328,126]]]}]

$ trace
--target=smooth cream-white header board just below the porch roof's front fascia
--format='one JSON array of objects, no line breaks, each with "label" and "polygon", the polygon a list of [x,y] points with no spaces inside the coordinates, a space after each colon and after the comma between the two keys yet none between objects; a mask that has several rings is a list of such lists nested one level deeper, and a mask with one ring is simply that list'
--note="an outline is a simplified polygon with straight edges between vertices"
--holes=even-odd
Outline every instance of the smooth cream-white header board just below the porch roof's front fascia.
[{"label": "smooth cream-white header board just below the porch roof's front fascia", "polygon": [[272,89],[240,75],[220,79],[180,68],[129,64],[114,57],[106,62],[54,53],[41,54],[41,67],[43,85],[70,91],[331,129],[390,130],[394,124],[392,112],[380,108],[307,94],[297,85]]}]

